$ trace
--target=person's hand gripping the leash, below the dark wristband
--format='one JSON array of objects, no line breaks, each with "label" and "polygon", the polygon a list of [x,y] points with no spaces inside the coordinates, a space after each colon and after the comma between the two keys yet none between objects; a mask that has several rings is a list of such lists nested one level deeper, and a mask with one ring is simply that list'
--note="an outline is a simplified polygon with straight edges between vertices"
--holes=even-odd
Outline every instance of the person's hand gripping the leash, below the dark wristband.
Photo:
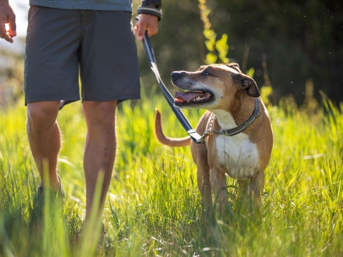
[{"label": "person's hand gripping the leash, below the dark wristband", "polygon": [[144,38],[145,31],[148,32],[149,36],[153,36],[157,33],[159,18],[155,15],[142,13],[140,15],[140,20],[136,23],[135,33],[137,34],[137,39],[142,40]]}]

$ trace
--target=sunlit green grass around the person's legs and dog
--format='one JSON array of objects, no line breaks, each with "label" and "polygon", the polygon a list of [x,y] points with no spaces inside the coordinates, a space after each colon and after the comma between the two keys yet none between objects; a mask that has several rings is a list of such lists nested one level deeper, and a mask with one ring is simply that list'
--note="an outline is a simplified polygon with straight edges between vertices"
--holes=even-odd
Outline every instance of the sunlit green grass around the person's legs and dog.
[{"label": "sunlit green grass around the person's legs and dog", "polygon": [[[228,179],[232,212],[217,221],[215,237],[203,227],[190,149],[156,141],[155,107],[166,134],[185,136],[163,97],[152,94],[119,107],[119,147],[103,215],[107,235],[98,249],[92,237],[76,242],[85,209],[81,104],[66,106],[58,117],[67,199],[48,208],[40,229],[31,218],[39,174],[25,106],[1,111],[0,256],[343,256],[342,105],[324,101],[311,118],[269,107],[275,142],[261,216],[250,218],[236,201],[236,182]],[[185,113],[195,126],[203,111]]]}]

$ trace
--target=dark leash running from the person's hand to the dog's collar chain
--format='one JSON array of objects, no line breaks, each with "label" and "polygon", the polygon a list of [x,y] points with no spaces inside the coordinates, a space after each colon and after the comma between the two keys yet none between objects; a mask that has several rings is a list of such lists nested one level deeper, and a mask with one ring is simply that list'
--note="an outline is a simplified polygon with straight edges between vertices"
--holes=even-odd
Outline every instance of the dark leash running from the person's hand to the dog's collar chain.
[{"label": "dark leash running from the person's hand to the dog's collar chain", "polygon": [[193,127],[191,127],[191,124],[187,120],[186,116],[184,116],[184,113],[182,112],[182,110],[174,105],[174,97],[170,94],[170,92],[166,88],[166,85],[163,84],[163,81],[162,81],[161,76],[159,74],[159,69],[157,69],[154,50],[152,50],[152,44],[150,43],[150,39],[149,39],[147,32],[145,32],[142,42],[143,42],[143,47],[144,47],[145,53],[147,54],[147,58],[149,61],[150,68],[152,68],[152,72],[154,72],[154,74],[155,74],[157,83],[159,83],[159,87],[161,88],[164,97],[166,97],[166,100],[167,100],[170,108],[175,113],[177,120],[180,121],[182,127],[184,127],[184,130],[187,131],[187,133],[189,134],[191,139],[194,141],[194,143],[202,144],[203,141],[200,141],[201,135],[196,133],[196,131],[193,129]]}]

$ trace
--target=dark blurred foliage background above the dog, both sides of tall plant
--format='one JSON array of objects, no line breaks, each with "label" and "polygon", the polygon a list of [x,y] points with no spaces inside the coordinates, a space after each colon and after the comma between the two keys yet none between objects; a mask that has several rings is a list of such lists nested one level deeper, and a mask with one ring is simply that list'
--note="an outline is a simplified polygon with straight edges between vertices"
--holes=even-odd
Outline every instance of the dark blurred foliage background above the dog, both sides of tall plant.
[{"label": "dark blurred foliage background above the dog, both sides of tall plant", "polygon": [[[163,81],[169,81],[171,71],[195,71],[205,64],[208,39],[198,4],[163,0],[159,34],[152,37]],[[253,67],[260,87],[265,81],[263,63],[268,64],[274,102],[291,94],[297,105],[302,104],[308,80],[315,98],[322,90],[334,102],[342,101],[342,1],[208,0],[206,4],[211,29],[218,37],[228,35],[227,57],[243,68]],[[155,81],[140,45],[141,74],[149,89]]]}]

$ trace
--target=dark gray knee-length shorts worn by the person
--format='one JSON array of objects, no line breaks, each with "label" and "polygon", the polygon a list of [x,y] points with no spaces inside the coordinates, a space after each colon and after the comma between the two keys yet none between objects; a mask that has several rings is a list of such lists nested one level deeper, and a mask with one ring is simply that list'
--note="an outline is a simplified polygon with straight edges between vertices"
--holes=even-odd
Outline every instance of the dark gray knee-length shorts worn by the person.
[{"label": "dark gray knee-length shorts worn by the person", "polygon": [[135,36],[127,11],[31,6],[25,104],[140,98]]}]

